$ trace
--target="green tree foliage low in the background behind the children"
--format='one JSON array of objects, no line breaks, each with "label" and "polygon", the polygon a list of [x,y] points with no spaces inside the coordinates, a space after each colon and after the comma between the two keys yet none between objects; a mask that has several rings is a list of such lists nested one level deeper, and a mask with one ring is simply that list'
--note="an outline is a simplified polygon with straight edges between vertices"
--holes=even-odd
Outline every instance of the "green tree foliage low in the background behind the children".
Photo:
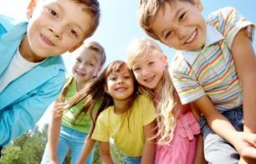
[{"label": "green tree foliage low in the background behind the children", "polygon": [[[35,127],[18,139],[12,141],[7,147],[2,150],[0,164],[39,164],[44,154],[44,148],[47,143],[48,124],[45,124],[42,129]],[[114,163],[123,163],[123,154],[111,144],[111,156]],[[70,163],[70,153],[63,164]],[[93,164],[100,164],[99,148],[96,144]]]}]

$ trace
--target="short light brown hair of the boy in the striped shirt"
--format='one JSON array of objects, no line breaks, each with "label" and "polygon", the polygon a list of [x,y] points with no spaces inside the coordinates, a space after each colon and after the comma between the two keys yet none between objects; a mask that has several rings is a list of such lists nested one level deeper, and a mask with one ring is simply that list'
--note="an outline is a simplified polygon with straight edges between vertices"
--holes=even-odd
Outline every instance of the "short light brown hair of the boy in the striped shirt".
[{"label": "short light brown hair of the boy in the striped shirt", "polygon": [[[154,39],[160,40],[156,36],[152,29],[152,24],[155,20],[155,15],[158,13],[160,8],[165,8],[165,3],[177,3],[178,0],[140,0],[139,9],[137,12],[137,20],[139,25],[148,34],[148,36]],[[180,0],[184,2],[193,3],[193,0]]]}]

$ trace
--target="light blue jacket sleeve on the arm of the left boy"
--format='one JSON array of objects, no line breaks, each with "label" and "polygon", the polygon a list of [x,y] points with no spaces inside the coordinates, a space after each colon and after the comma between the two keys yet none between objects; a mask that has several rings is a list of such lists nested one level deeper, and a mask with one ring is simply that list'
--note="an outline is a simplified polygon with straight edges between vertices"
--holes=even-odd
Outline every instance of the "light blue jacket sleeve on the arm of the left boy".
[{"label": "light blue jacket sleeve on the arm of the left boy", "polygon": [[11,140],[32,129],[43,116],[44,111],[59,95],[64,83],[62,77],[52,78],[39,89],[27,93],[26,99],[1,110],[0,145],[5,146]]}]

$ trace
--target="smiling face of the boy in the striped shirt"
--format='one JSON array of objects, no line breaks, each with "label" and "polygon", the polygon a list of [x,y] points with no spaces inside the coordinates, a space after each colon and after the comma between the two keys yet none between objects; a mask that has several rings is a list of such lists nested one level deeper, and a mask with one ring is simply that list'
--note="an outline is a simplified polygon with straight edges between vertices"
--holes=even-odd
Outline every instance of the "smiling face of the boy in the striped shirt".
[{"label": "smiling face of the boy in the striped shirt", "polygon": [[177,1],[165,3],[152,24],[160,42],[177,50],[198,50],[206,42],[206,21],[201,14],[200,0],[194,4]]}]

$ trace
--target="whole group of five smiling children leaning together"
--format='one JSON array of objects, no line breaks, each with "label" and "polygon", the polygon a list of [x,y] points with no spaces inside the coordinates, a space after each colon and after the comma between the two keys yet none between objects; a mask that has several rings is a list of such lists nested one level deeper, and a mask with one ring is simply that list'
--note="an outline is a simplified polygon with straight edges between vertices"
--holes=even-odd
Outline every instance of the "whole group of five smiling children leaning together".
[{"label": "whole group of five smiling children leaning together", "polygon": [[[2,147],[55,100],[42,164],[62,163],[69,149],[71,163],[92,163],[96,142],[102,163],[114,163],[110,139],[125,164],[256,163],[255,25],[235,8],[205,20],[200,0],[139,3],[143,30],[177,50],[170,67],[156,42],[140,38],[127,63],[102,71],[104,48],[84,42],[99,24],[96,0],[39,0],[28,22],[0,16]],[[65,81],[60,54],[76,48]]]}]

